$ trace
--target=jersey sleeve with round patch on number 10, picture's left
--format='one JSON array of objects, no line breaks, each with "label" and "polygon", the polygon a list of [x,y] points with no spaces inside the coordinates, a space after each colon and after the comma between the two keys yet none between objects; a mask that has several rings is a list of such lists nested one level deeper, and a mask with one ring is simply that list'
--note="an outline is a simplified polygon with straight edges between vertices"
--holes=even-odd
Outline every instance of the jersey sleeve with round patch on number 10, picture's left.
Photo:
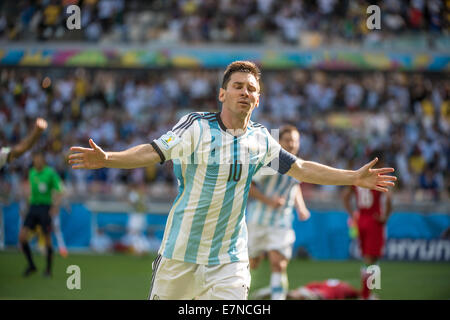
[{"label": "jersey sleeve with round patch on number 10, picture's left", "polygon": [[153,140],[151,145],[161,158],[161,163],[178,159],[186,161],[200,141],[201,115],[190,113],[180,119],[172,130]]}]

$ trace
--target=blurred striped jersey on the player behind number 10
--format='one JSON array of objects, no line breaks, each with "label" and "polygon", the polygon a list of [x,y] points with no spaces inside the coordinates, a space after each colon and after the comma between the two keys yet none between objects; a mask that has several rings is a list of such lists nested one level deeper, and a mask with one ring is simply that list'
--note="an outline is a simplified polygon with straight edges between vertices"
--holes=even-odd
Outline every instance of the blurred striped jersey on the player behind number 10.
[{"label": "blurred striped jersey on the player behind number 10", "polygon": [[295,195],[298,192],[299,182],[288,175],[279,173],[258,175],[254,181],[265,196],[283,197],[286,202],[275,209],[259,200],[252,199],[247,207],[247,223],[265,227],[292,228]]}]

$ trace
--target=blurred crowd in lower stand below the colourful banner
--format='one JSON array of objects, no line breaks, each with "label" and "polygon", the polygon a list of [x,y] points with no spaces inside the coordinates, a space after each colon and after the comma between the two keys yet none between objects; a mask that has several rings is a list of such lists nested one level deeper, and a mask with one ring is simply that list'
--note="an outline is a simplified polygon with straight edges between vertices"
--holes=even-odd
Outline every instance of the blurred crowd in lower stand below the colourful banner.
[{"label": "blurred crowd in lower stand below the colourful banner", "polygon": [[[49,130],[38,148],[73,194],[126,196],[124,185],[148,186],[153,195],[175,192],[170,163],[122,171],[71,170],[68,148],[122,150],[150,142],[190,111],[218,111],[222,70],[24,69],[0,71],[0,146],[16,143],[38,116]],[[397,169],[395,192],[408,201],[447,199],[450,80],[441,74],[264,71],[261,104],[253,121],[269,130],[284,123],[301,132],[300,154],[341,168],[356,168],[374,151]],[[276,132],[272,131],[276,136]],[[31,155],[0,171],[3,190],[20,190]],[[162,188],[161,186],[166,186]],[[122,188],[122,189],[121,189]],[[305,198],[338,188],[304,188]],[[173,193],[171,193],[173,195]]]}]

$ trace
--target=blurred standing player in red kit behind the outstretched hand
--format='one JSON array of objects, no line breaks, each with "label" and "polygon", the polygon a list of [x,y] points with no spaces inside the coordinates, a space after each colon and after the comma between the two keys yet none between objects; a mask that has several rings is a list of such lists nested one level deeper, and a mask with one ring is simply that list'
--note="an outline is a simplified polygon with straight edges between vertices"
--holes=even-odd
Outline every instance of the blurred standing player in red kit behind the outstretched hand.
[{"label": "blurred standing player in red kit behind the outstretched hand", "polygon": [[[352,206],[355,197],[356,209]],[[347,212],[356,222],[358,238],[364,265],[361,268],[362,298],[370,298],[367,286],[367,267],[378,263],[385,242],[385,225],[392,211],[390,193],[382,193],[359,187],[349,187],[343,192],[343,203]]]}]

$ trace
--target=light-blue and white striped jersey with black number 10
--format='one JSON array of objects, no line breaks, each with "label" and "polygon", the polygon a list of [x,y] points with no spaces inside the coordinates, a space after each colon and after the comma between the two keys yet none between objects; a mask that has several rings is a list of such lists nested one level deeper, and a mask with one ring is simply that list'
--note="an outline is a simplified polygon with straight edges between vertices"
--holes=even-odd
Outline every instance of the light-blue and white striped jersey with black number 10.
[{"label": "light-blue and white striped jersey with black number 10", "polygon": [[205,265],[248,261],[244,214],[252,177],[281,146],[252,121],[241,133],[227,130],[220,113],[194,112],[153,141],[162,162],[173,161],[179,184],[159,250],[164,257]]}]

